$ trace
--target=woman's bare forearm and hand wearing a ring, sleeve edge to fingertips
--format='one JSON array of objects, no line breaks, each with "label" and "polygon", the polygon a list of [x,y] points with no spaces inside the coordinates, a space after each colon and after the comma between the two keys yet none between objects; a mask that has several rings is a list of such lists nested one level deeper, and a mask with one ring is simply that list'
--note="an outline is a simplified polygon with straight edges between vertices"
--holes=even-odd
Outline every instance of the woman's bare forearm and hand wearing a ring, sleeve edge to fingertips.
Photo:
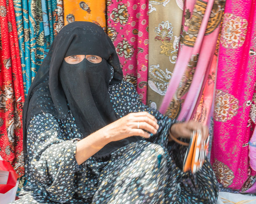
[{"label": "woman's bare forearm and hand wearing a ring, sleeve edge to fingertips", "polygon": [[76,161],[78,165],[82,164],[112,141],[131,136],[149,138],[150,133],[155,134],[158,128],[156,118],[148,112],[130,113],[78,141],[76,145]]}]

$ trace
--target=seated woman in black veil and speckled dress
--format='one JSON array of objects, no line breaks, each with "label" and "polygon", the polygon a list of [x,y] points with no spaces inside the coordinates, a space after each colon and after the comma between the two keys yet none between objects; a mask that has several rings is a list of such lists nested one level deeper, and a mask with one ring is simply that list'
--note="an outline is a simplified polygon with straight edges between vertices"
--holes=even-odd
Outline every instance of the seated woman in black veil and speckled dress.
[{"label": "seated woman in black veil and speckled dress", "polygon": [[65,26],[30,87],[23,110],[28,184],[15,203],[215,203],[206,160],[183,173],[186,148],[168,143],[200,129],[142,104],[122,81],[110,38],[89,22]]}]

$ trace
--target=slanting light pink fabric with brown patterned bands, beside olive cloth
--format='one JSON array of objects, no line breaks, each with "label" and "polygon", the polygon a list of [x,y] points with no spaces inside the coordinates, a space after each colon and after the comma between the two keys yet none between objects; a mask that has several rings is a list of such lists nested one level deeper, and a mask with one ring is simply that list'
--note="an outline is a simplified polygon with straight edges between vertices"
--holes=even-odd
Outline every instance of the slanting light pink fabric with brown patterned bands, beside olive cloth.
[{"label": "slanting light pink fabric with brown patterned bands, beside olive cloth", "polygon": [[207,95],[204,115],[199,116],[200,122],[207,124],[214,94],[214,81],[209,79],[215,75],[212,58],[224,5],[224,0],[186,1],[181,47],[160,112],[167,115],[175,112],[178,120],[193,119]]}]

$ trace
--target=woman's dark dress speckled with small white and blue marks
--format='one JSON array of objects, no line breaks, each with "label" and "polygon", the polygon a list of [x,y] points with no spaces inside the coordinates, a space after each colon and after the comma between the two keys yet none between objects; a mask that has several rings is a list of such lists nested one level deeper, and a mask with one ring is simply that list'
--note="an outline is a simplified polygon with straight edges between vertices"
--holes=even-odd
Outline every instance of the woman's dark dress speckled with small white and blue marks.
[{"label": "woman's dark dress speckled with small white and blue marks", "polygon": [[218,183],[208,161],[194,175],[180,169],[186,147],[168,143],[176,121],[145,106],[128,82],[111,85],[109,94],[120,117],[147,111],[158,120],[158,132],[78,165],[76,143],[83,135],[72,113],[65,120],[39,113],[27,130],[28,184],[14,203],[216,203]]}]

